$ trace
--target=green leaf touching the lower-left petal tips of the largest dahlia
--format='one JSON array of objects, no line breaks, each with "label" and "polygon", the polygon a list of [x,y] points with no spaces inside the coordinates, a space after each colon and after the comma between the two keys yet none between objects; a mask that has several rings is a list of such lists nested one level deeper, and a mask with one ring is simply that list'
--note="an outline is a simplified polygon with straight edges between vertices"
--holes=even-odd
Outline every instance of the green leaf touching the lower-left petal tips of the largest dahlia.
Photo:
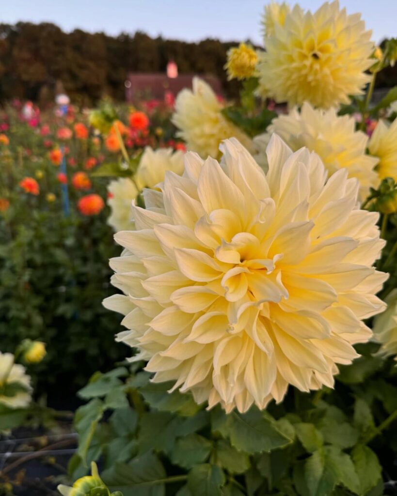
[{"label": "green leaf touching the lower-left petal tips of the largest dahlia", "polygon": [[145,401],[156,410],[161,412],[178,412],[180,415],[195,415],[201,407],[195,402],[190,393],[182,394],[179,391],[167,392],[172,387],[170,382],[149,382],[139,388],[140,394]]}]

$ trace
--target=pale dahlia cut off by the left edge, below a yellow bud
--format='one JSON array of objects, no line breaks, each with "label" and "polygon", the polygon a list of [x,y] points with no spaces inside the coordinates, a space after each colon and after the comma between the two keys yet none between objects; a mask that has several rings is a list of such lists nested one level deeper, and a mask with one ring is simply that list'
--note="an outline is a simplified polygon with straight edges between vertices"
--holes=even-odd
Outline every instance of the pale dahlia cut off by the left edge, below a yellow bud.
[{"label": "pale dahlia cut off by the left edge, below a yellow bud", "polygon": [[31,401],[30,377],[22,365],[14,363],[12,353],[0,352],[0,404],[25,408]]}]

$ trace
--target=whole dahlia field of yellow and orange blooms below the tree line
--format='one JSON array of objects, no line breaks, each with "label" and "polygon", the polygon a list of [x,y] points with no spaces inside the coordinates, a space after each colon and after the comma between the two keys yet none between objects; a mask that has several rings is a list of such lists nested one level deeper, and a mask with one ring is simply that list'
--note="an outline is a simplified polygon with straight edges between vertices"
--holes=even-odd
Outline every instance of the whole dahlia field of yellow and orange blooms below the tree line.
[{"label": "whole dahlia field of yellow and orange blooms below the tree line", "polygon": [[0,495],[397,494],[397,40],[262,29],[234,102],[1,110]]}]

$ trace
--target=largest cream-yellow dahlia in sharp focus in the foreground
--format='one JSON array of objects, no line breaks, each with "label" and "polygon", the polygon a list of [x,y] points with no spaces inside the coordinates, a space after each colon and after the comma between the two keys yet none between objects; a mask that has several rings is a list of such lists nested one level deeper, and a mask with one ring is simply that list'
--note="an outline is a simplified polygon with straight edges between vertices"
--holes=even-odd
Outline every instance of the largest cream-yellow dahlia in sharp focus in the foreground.
[{"label": "largest cream-yellow dahlia in sharp focus in the foreground", "polygon": [[118,339],[153,381],[244,412],[288,384],[331,387],[370,338],[362,319],[384,309],[387,275],[372,267],[378,214],[359,209],[345,169],[327,181],[318,155],[276,135],[266,175],[237,140],[221,150],[220,164],[188,153],[182,177],[133,207],[137,231],[116,235],[110,262],[124,296],[105,306],[125,314]]}]

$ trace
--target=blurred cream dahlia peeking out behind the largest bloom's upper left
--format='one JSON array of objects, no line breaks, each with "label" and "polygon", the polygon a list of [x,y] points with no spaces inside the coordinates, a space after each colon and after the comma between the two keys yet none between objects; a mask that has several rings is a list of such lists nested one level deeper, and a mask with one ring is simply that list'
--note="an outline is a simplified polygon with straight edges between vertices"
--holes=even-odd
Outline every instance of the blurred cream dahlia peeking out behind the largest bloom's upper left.
[{"label": "blurred cream dahlia peeking out behind the largest bloom's upper left", "polygon": [[[131,205],[138,192],[144,187],[154,187],[164,181],[166,171],[182,174],[183,156],[182,151],[174,152],[172,148],[153,150],[147,146],[140,159],[134,181],[120,178],[109,183],[108,205],[111,214],[108,224],[115,231],[133,229]],[[139,191],[135,185],[138,186]]]}]

